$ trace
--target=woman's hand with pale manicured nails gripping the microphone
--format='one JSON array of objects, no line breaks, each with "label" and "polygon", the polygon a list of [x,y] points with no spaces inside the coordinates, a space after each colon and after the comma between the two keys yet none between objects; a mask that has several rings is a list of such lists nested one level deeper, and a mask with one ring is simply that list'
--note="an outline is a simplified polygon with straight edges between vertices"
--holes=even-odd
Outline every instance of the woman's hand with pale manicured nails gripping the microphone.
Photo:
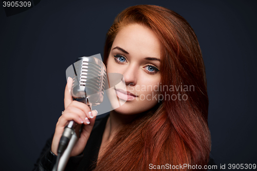
[{"label": "woman's hand with pale manicured nails gripping the microphone", "polygon": [[[72,87],[72,79],[69,77],[64,93],[64,108],[63,115],[59,118],[56,124],[56,130],[53,135],[51,151],[53,154],[58,155],[57,149],[59,141],[62,137],[64,127],[67,122],[74,120],[78,124],[84,124],[83,130],[81,132],[78,142],[72,149],[70,156],[77,156],[84,150],[87,140],[90,136],[91,130],[94,126],[97,110],[91,111],[90,108],[81,102],[73,101],[70,95],[70,90]],[[91,113],[89,113],[91,112]],[[90,117],[91,116],[91,117]],[[79,126],[79,125],[78,125]]]}]

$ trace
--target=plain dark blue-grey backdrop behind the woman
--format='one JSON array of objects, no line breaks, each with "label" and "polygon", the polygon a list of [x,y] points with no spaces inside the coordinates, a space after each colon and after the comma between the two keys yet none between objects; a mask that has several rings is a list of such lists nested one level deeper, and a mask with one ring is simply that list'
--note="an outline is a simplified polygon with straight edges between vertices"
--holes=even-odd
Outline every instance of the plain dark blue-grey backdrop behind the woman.
[{"label": "plain dark blue-grey backdrop behind the woman", "polygon": [[212,155],[257,163],[256,1],[41,1],[6,17],[0,7],[1,170],[31,170],[54,132],[79,56],[103,54],[105,34],[128,6],[159,5],[193,27],[203,51]]}]

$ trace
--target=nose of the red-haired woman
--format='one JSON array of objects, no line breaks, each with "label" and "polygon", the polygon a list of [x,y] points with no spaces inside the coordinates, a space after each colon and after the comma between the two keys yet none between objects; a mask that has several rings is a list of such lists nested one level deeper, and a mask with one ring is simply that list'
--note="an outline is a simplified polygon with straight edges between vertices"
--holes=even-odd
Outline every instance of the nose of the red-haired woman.
[{"label": "nose of the red-haired woman", "polygon": [[136,85],[138,67],[135,64],[128,65],[123,72],[123,77],[126,85]]}]

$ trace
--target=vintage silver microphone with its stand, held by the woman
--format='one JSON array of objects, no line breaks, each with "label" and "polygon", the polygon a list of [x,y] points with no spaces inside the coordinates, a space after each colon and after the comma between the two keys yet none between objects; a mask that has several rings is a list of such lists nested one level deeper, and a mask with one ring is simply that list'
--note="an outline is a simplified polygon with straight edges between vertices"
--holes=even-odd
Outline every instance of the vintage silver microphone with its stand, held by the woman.
[{"label": "vintage silver microphone with its stand, held by the woman", "polygon": [[[97,54],[100,56],[100,54]],[[96,56],[96,55],[95,55]],[[74,100],[90,106],[102,103],[107,82],[106,67],[101,60],[94,56],[82,56],[66,70],[66,75],[73,75],[70,94]],[[82,125],[83,126],[83,125]],[[64,128],[58,146],[58,158],[52,170],[62,171],[68,162],[72,148],[80,136],[82,126],[78,132],[78,124],[69,121]]]}]

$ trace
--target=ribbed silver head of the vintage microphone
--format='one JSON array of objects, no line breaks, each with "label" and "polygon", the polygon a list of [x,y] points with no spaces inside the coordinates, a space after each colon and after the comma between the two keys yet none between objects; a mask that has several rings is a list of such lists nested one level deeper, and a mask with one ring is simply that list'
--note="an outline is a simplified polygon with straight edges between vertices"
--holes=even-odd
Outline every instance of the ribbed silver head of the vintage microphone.
[{"label": "ribbed silver head of the vintage microphone", "polygon": [[82,56],[73,65],[74,79],[71,96],[75,99],[87,98],[91,105],[99,105],[103,101],[106,67],[94,56]]}]

